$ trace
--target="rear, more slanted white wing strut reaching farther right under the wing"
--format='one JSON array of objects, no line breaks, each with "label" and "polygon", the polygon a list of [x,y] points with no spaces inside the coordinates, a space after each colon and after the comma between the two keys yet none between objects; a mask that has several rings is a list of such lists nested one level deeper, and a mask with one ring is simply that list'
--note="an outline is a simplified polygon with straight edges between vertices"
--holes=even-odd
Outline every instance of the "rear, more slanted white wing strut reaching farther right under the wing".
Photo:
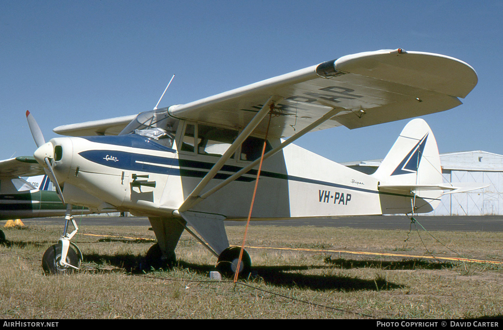
[{"label": "rear, more slanted white wing strut reaching farther right under the wing", "polygon": [[[315,122],[311,123],[310,125],[306,126],[304,129],[300,130],[297,134],[291,136],[290,138],[288,138],[287,140],[283,141],[283,143],[281,143],[279,146],[277,146],[276,148],[270,150],[269,152],[267,152],[265,155],[264,155],[264,160],[271,157],[272,155],[276,154],[278,151],[282,150],[284,147],[286,147],[287,145],[289,145],[290,143],[294,142],[295,140],[297,140],[299,137],[301,137],[302,135],[310,132],[312,129],[314,129],[315,127],[321,125],[322,123],[324,123],[325,121],[327,121],[328,119],[332,118],[333,116],[337,115],[339,112],[341,112],[342,110],[345,110],[345,109],[342,109],[342,108],[332,108],[330,111],[328,111],[323,117],[321,117],[320,119],[316,120]],[[225,181],[223,181],[222,183],[220,183],[219,185],[215,186],[214,188],[212,188],[211,190],[207,191],[206,193],[200,195],[200,196],[197,196],[197,195],[194,195],[193,198],[191,199],[190,201],[190,205],[185,205],[189,199],[189,197],[185,200],[185,202],[182,204],[182,206],[179,208],[179,210],[182,209],[182,207],[186,207],[186,210],[190,209],[191,207],[194,207],[196,204],[198,204],[199,202],[203,201],[205,198],[208,198],[209,196],[211,196],[212,194],[214,194],[215,192],[217,192],[218,190],[222,189],[223,187],[227,186],[229,183],[231,183],[232,181],[236,180],[237,178],[239,178],[240,176],[242,176],[243,174],[246,174],[249,170],[253,169],[255,166],[257,166],[257,164],[260,162],[261,158],[258,158],[256,159],[255,161],[251,162],[248,166],[246,166],[245,168],[241,169],[240,171],[236,172],[235,174],[233,174],[232,176],[230,176],[229,178],[225,179]],[[196,187],[197,188],[197,187]],[[194,192],[191,194],[191,196],[194,194]]]}]

